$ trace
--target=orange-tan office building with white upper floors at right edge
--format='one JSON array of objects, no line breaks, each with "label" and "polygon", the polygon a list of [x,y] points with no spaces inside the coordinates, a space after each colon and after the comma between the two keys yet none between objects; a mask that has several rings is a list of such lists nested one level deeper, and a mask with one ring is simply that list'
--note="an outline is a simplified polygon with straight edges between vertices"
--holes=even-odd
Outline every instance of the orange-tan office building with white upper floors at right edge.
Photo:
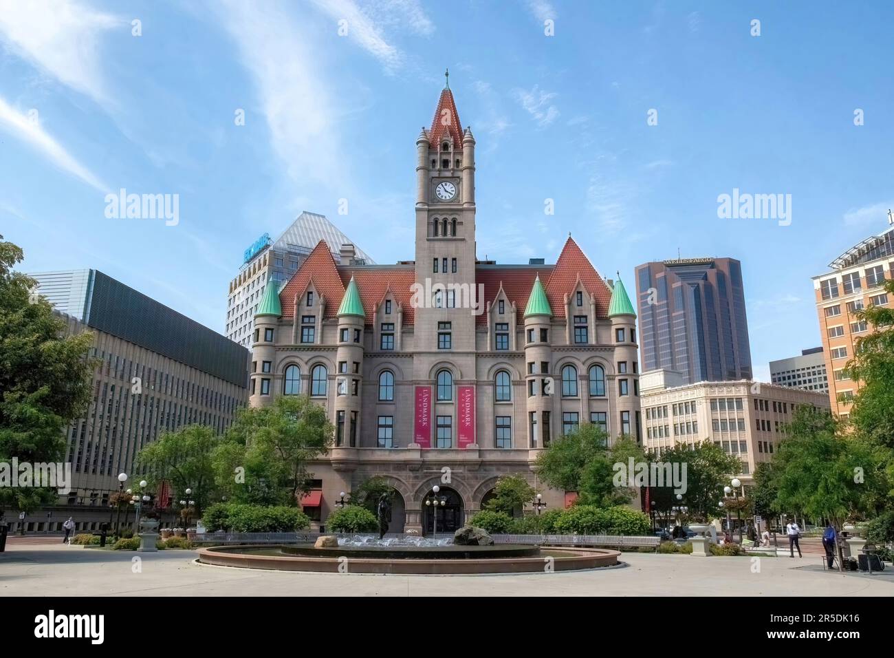
[{"label": "orange-tan office building with white upper floors at right edge", "polygon": [[[889,211],[888,215],[889,223],[894,223],[894,213]],[[881,288],[886,278],[894,278],[894,226],[851,247],[829,267],[830,272],[813,278],[816,312],[831,408],[847,417],[860,382],[851,380],[844,367],[854,356],[857,340],[873,329],[857,321],[854,312],[870,304],[887,306],[894,302]]]}]

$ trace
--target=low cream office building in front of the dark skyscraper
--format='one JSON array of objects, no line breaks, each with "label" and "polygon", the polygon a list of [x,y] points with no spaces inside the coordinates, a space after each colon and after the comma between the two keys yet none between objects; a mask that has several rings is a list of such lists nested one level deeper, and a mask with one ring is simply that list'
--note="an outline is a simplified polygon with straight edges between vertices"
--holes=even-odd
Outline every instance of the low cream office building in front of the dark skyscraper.
[{"label": "low cream office building in front of the dark skyscraper", "polygon": [[746,486],[785,438],[797,406],[828,409],[829,397],[752,380],[684,384],[681,373],[658,370],[641,375],[640,404],[646,449],[660,455],[679,443],[713,441],[739,457]]}]

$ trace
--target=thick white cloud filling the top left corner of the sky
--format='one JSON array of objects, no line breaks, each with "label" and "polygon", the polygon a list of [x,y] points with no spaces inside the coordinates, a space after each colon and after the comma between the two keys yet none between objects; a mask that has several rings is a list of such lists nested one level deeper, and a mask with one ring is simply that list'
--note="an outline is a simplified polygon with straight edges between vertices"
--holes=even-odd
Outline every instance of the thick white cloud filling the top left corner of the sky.
[{"label": "thick white cloud filling the top left corner of the sky", "polygon": [[125,21],[76,0],[0,0],[0,38],[17,56],[100,103],[110,103],[98,40]]}]

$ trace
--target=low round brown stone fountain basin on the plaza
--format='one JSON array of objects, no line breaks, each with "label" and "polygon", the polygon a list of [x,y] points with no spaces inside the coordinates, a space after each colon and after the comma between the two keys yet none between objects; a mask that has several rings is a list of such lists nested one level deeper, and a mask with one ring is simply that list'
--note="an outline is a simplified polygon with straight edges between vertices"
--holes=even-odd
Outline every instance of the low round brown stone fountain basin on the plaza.
[{"label": "low round brown stone fountain basin on the plaza", "polygon": [[[442,551],[448,549],[448,551]],[[456,550],[451,555],[451,550]],[[286,551],[288,550],[288,551]],[[607,549],[541,549],[537,546],[439,546],[426,547],[429,557],[414,557],[415,547],[364,547],[314,549],[313,546],[243,545],[215,546],[198,550],[202,564],[219,567],[263,568],[354,574],[498,574],[549,573],[611,567],[619,551]],[[505,551],[517,551],[507,554]],[[300,552],[295,552],[300,551]],[[321,553],[320,551],[325,551]],[[359,552],[355,552],[359,551]],[[368,557],[373,551],[375,557]],[[430,557],[431,555],[436,557]],[[502,557],[496,557],[502,556]]]}]

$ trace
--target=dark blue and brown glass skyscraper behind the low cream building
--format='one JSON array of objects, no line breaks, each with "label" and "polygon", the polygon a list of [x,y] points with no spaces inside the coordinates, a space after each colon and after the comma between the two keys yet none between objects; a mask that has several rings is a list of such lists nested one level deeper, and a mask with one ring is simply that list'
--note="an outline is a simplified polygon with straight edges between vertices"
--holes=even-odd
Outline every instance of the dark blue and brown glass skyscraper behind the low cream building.
[{"label": "dark blue and brown glass skyscraper behind the low cream building", "polygon": [[677,259],[637,267],[641,366],[687,384],[750,380],[751,347],[741,263]]}]

